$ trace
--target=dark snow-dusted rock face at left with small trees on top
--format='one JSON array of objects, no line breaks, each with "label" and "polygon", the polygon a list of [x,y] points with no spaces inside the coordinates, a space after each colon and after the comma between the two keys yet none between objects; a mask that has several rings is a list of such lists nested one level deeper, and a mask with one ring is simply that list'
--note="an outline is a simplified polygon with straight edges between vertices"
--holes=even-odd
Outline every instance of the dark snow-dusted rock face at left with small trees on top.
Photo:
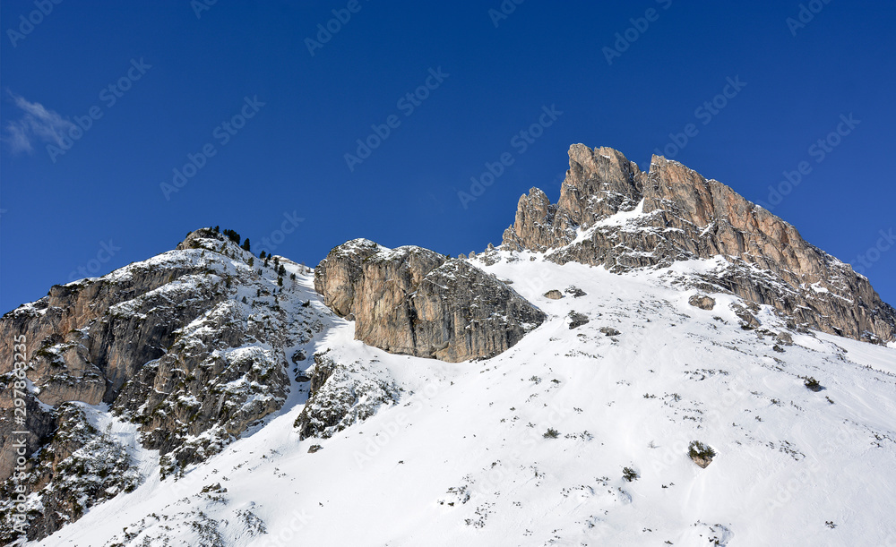
[{"label": "dark snow-dusted rock face at left with small trees on top", "polygon": [[[83,413],[95,414],[85,404],[108,404],[112,414],[134,423],[143,448],[159,450],[163,477],[212,456],[283,405],[287,355],[301,352],[323,329],[321,312],[302,305],[307,291],[295,281],[278,286],[276,262],[250,267],[250,260],[261,262],[219,233],[197,230],[175,251],[102,278],[53,286],[0,319],[4,386],[13,380],[13,339],[27,339],[33,385],[25,389],[27,483],[43,507],[53,508],[52,517],[31,512],[30,539],[81,517],[86,507],[72,500],[99,502],[139,482],[126,452],[84,425]],[[15,457],[6,446],[22,429],[12,421],[12,397],[9,389],[0,392],[4,489]],[[100,452],[112,456],[99,461]],[[73,492],[67,486],[72,469],[98,469],[110,478]],[[128,480],[113,484],[113,477]]]}]

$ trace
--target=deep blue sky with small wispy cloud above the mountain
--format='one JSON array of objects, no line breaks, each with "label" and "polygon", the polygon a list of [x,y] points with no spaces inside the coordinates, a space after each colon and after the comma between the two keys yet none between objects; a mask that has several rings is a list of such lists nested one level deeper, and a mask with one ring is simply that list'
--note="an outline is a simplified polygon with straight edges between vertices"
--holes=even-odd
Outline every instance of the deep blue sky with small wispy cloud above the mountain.
[{"label": "deep blue sky with small wispy cloud above the mountain", "polygon": [[479,251],[530,187],[556,200],[576,142],[666,150],[896,303],[894,22],[883,1],[4,0],[0,311],[199,226],[309,265],[355,237]]}]

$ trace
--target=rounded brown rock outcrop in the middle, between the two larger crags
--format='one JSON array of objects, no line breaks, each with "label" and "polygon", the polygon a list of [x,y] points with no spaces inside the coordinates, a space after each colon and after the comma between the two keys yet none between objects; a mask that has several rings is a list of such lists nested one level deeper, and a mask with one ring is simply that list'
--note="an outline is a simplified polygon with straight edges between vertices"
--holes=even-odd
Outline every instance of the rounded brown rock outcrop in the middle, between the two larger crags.
[{"label": "rounded brown rock outcrop in the middle, between the two larger crags", "polygon": [[314,287],[333,312],[354,317],[358,340],[452,363],[500,354],[546,318],[467,261],[363,239],[333,249]]}]

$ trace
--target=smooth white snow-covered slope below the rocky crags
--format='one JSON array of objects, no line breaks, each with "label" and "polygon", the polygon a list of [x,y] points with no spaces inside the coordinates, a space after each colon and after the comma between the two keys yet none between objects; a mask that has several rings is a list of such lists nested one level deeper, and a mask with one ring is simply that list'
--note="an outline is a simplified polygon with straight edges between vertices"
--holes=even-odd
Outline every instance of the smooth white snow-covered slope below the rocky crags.
[{"label": "smooth white snow-covered slope below the rocky crags", "polygon": [[[299,440],[299,377],[279,412],[182,478],[142,466],[136,490],[33,544],[896,545],[896,346],[816,332],[788,346],[770,309],[744,329],[733,295],[690,305],[688,279],[718,261],[616,275],[495,256],[474,263],[549,315],[516,346],[390,355],[332,316],[306,348],[341,365],[332,389],[355,405],[371,392],[358,386],[387,387],[373,415]],[[313,279],[297,284],[325,313]],[[572,312],[588,322],[571,328]],[[705,469],[693,440],[716,452]]]}]

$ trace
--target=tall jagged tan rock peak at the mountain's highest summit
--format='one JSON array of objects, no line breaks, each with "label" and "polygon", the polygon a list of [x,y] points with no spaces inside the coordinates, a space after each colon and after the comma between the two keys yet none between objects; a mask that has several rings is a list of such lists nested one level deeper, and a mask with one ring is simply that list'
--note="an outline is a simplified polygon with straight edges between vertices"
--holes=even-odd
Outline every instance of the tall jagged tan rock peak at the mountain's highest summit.
[{"label": "tall jagged tan rock peak at the mountain's highest summit", "polygon": [[714,290],[831,334],[896,337],[896,311],[867,278],[725,184],[658,156],[646,175],[608,148],[575,144],[569,158],[556,204],[537,188],[520,198],[504,249],[616,272],[721,257],[725,268],[703,278]]}]

